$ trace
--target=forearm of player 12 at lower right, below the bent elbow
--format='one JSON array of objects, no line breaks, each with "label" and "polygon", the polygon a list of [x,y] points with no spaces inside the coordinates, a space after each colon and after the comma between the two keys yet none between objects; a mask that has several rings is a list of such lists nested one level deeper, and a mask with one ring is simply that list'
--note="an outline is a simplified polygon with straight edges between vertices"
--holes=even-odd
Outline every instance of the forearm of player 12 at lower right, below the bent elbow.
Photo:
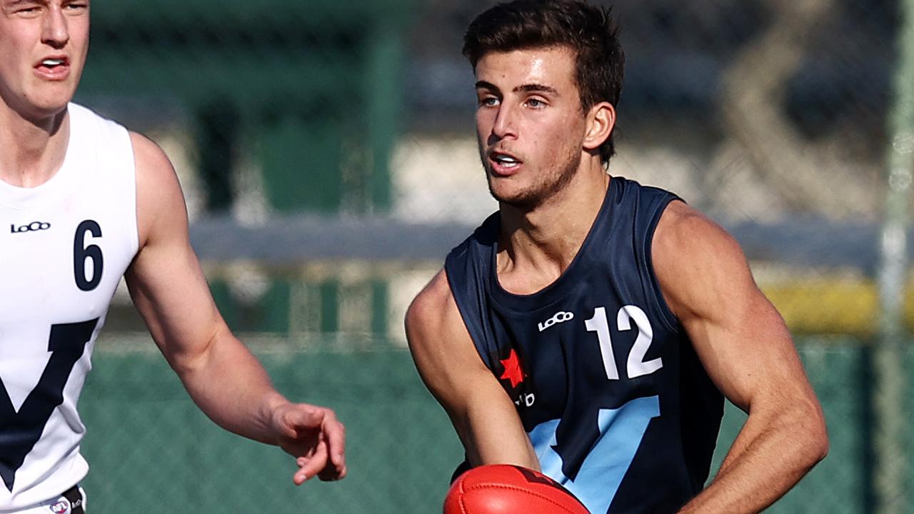
[{"label": "forearm of player 12 at lower right, below the bent elbow", "polygon": [[813,412],[749,416],[717,477],[682,514],[760,512],[781,498],[825,455],[827,438]]}]

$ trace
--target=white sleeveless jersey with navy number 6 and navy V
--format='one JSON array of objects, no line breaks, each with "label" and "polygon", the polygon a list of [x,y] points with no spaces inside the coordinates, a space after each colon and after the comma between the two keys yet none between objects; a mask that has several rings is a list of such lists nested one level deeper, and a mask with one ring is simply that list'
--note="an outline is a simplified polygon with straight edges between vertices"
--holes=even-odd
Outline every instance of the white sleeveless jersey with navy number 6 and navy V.
[{"label": "white sleeveless jersey with navy number 6 and navy V", "polygon": [[88,472],[77,401],[139,247],[127,131],[73,103],[69,123],[48,182],[0,181],[0,512],[58,498]]}]

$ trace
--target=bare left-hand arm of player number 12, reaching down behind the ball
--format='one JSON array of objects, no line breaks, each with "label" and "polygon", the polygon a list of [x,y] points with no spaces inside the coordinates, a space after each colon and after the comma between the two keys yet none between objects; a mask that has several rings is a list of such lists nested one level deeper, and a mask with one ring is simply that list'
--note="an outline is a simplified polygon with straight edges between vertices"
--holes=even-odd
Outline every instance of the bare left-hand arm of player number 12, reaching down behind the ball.
[{"label": "bare left-hand arm of player number 12, reaching down behind the ball", "polygon": [[476,352],[443,270],[409,305],[406,334],[416,369],[451,417],[470,464],[539,470],[515,405]]}]

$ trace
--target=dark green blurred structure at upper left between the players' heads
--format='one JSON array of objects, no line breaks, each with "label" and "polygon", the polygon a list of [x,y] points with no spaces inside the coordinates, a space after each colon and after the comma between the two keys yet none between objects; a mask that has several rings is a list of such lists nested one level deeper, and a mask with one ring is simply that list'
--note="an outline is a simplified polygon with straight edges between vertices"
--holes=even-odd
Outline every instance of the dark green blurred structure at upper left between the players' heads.
[{"label": "dark green blurred structure at upper left between the players' heads", "polygon": [[384,211],[410,9],[389,0],[93,4],[78,100],[119,103],[113,111],[134,130],[186,121],[210,210],[231,206],[242,187],[231,172],[250,152],[273,209]]}]

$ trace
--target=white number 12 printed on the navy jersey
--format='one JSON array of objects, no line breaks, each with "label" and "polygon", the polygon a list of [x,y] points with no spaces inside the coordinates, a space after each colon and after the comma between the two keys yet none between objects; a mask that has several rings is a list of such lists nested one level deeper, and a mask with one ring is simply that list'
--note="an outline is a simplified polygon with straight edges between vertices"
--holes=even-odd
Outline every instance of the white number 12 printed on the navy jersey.
[{"label": "white number 12 printed on the navy jersey", "polygon": [[[664,367],[664,361],[659,357],[644,361],[647,349],[651,348],[651,342],[654,340],[654,329],[651,328],[651,321],[641,308],[635,305],[625,305],[619,309],[619,315],[616,316],[616,326],[619,327],[620,331],[631,330],[632,320],[634,320],[638,328],[638,337],[634,340],[626,365],[626,371],[630,379],[650,375],[657,369]],[[600,339],[600,355],[603,358],[603,368],[606,369],[606,378],[619,380],[619,369],[616,367],[615,354],[612,353],[610,324],[606,320],[606,307],[594,309],[593,317],[585,320],[584,326],[587,327],[588,332],[596,332],[597,338]]]}]

